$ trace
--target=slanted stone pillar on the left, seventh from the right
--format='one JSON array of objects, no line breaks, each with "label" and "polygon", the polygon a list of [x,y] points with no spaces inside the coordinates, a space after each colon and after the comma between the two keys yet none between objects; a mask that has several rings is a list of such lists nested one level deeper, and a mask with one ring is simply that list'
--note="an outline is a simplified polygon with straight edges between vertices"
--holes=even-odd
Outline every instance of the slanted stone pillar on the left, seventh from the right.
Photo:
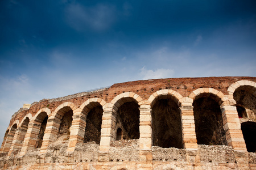
[{"label": "slanted stone pillar on the left, seventh from the right", "polygon": [[27,133],[25,135],[23,145],[20,151],[20,156],[27,153],[28,150],[35,148],[36,141],[40,132],[41,123],[38,121],[31,122],[28,124]]}]

